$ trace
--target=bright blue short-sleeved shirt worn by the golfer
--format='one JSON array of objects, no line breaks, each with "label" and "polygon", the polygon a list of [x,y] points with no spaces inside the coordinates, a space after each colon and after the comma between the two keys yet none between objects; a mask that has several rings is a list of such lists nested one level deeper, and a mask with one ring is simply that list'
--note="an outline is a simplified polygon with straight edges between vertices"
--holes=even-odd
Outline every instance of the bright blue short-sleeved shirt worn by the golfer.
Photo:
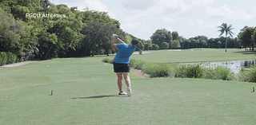
[{"label": "bright blue short-sleeved shirt worn by the golfer", "polygon": [[115,63],[128,64],[130,62],[130,55],[134,53],[135,47],[126,44],[118,44],[118,53],[114,57]]}]

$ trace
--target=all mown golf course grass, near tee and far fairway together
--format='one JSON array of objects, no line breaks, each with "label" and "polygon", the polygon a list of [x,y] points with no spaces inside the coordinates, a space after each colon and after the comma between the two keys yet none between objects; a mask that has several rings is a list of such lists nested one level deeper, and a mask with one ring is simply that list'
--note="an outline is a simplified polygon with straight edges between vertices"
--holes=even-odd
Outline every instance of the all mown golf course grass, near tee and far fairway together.
[{"label": "all mown golf course grass, near tee and far fairway together", "polygon": [[[134,53],[131,59],[180,64],[255,56],[242,49],[168,49]],[[256,124],[255,83],[142,78],[130,71],[132,96],[118,96],[113,64],[102,62],[106,57],[0,68],[0,124]]]}]

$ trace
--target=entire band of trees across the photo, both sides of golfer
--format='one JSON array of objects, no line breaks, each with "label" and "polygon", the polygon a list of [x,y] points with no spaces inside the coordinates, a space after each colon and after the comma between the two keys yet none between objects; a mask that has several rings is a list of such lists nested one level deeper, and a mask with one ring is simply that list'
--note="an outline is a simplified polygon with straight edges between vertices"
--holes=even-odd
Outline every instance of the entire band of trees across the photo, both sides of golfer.
[{"label": "entire band of trees across the photo, both sides of golfer", "polygon": [[[77,7],[54,5],[49,0],[0,0],[0,52],[14,53],[20,61],[108,55],[117,52],[117,49],[110,47],[113,33],[118,34],[126,43],[137,38],[124,32],[120,25],[108,13],[89,8],[79,11]],[[221,34],[229,34],[232,25],[223,23],[218,28]],[[177,31],[157,29],[150,40],[138,38],[138,48],[250,47],[254,50],[255,36],[255,27],[248,26],[241,29],[238,37],[210,39],[206,36],[186,39],[179,36]]]}]

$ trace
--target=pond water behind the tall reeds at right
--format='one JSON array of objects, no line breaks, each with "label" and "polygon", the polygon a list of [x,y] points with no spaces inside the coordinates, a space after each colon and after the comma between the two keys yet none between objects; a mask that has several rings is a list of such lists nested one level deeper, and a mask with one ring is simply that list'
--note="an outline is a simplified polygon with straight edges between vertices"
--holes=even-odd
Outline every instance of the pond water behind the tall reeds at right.
[{"label": "pond water behind the tall reeds at right", "polygon": [[224,66],[231,69],[231,72],[237,74],[242,68],[250,68],[255,66],[256,60],[249,61],[218,61],[218,62],[204,62],[204,63],[186,63],[187,64],[200,64],[204,68],[214,68],[217,66]]}]

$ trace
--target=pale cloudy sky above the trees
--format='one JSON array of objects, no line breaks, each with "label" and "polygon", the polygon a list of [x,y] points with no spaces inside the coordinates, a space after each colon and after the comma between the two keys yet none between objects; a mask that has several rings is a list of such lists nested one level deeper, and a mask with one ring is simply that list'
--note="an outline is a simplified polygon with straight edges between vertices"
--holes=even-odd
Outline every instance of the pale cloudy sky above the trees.
[{"label": "pale cloudy sky above the trees", "polygon": [[[256,26],[255,0],[50,0],[78,10],[108,12],[126,33],[144,40],[157,29],[177,31],[179,36],[219,37],[218,26],[233,25],[237,37],[244,26]],[[224,36],[225,37],[225,36]]]}]

